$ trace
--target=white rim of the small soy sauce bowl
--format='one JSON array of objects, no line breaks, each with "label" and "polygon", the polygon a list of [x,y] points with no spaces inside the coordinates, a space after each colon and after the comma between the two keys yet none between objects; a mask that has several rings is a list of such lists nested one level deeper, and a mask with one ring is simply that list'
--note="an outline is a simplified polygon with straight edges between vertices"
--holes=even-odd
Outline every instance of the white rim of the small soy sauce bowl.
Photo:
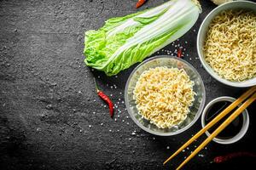
[{"label": "white rim of the small soy sauce bowl", "polygon": [[[210,101],[204,111],[202,111],[201,114],[201,127],[206,127],[206,122],[205,122],[205,116],[207,114],[208,109],[215,103],[217,103],[218,101],[230,101],[230,102],[234,102],[236,99],[232,98],[230,96],[221,96],[218,97],[216,99],[212,99],[212,101]],[[238,105],[240,106],[240,105]],[[230,139],[218,139],[217,137],[215,137],[214,139],[212,139],[214,142],[218,143],[218,144],[233,144],[236,143],[238,140],[242,139],[242,137],[247,133],[249,124],[250,124],[250,117],[248,114],[247,109],[245,109],[244,111],[242,111],[242,116],[243,116],[243,121],[242,121],[242,127],[241,130],[239,131],[239,133],[237,133],[234,137],[230,138]],[[208,131],[205,132],[207,134],[207,136],[209,137],[211,135],[211,133],[209,133]]]}]

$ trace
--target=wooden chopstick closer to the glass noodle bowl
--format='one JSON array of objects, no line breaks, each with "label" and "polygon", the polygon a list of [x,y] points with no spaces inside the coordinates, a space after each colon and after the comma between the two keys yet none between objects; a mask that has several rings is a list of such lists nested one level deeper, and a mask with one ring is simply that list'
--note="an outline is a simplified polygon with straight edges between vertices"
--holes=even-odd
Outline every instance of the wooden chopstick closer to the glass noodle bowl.
[{"label": "wooden chopstick closer to the glass noodle bowl", "polygon": [[252,95],[256,91],[256,86],[253,88],[250,88],[242,94],[236,101],[234,101],[231,105],[229,105],[224,111],[222,111],[218,116],[216,116],[211,122],[207,124],[206,127],[202,128],[198,133],[195,134],[191,139],[189,139],[188,142],[183,144],[176,152],[172,154],[166,161],[164,162],[164,165],[170,161],[174,156],[177,156],[178,153],[180,153],[183,149],[185,149],[189,144],[195,141],[195,139],[198,139],[203,133],[205,133],[209,128],[211,128],[215,123],[217,123],[219,120],[221,120],[224,116],[226,116],[230,111],[236,108],[237,105],[241,104],[245,99],[247,99],[250,95]]}]

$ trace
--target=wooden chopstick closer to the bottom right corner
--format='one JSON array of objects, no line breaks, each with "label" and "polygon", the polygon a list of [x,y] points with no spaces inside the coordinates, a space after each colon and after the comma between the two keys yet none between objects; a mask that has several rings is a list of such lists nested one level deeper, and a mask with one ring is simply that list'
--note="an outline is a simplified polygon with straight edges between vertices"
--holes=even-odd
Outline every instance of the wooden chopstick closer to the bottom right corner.
[{"label": "wooden chopstick closer to the bottom right corner", "polygon": [[190,159],[192,159],[200,150],[202,150],[209,142],[212,141],[213,138],[215,138],[218,133],[223,131],[225,127],[227,127],[230,122],[233,122],[237,116],[241,114],[242,111],[244,111],[248,105],[251,105],[253,101],[256,99],[256,93],[253,94],[252,97],[247,99],[246,102],[244,102],[232,115],[229,116],[203,143],[201,143],[191,154],[190,156],[185,159],[182,164],[180,164],[179,167],[177,167],[177,170],[179,170],[181,167],[183,167]]}]

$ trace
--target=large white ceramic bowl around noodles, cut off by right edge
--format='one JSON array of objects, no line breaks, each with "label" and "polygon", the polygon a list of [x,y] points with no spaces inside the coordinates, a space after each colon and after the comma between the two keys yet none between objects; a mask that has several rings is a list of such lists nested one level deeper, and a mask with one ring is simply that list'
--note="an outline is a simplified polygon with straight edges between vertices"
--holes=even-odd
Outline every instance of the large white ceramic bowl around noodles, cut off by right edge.
[{"label": "large white ceramic bowl around noodles, cut off by right edge", "polygon": [[[205,38],[207,36],[208,26],[211,23],[212,19],[218,15],[221,11],[228,10],[228,9],[236,9],[236,8],[244,8],[253,10],[256,13],[256,3],[248,2],[248,1],[234,1],[230,3],[224,3],[223,5],[218,6],[217,8],[214,8],[210,14],[207,15],[205,20],[203,20],[201,27],[198,31],[197,35],[197,53],[199,55],[199,58],[201,60],[201,64],[206,69],[206,71],[218,82],[222,82],[226,85],[236,87],[236,88],[246,88],[256,85],[256,77],[253,79],[244,81],[244,82],[231,82],[229,80],[224,79],[223,77],[218,76],[218,73],[216,73],[210,65],[207,64],[207,61],[205,60],[202,48],[204,45]],[[256,66],[256,65],[255,65]]]}]

